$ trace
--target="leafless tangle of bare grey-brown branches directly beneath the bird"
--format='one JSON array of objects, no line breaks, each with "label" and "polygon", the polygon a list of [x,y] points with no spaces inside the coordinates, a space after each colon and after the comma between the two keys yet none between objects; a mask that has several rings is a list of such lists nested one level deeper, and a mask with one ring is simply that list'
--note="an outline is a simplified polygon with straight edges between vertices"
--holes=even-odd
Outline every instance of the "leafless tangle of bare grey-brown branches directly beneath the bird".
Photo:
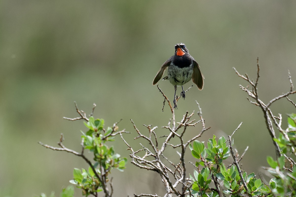
[{"label": "leafless tangle of bare grey-brown branches directly beneath the bird", "polygon": [[[131,123],[133,124],[133,128],[136,130],[138,134],[138,136],[136,136],[134,139],[142,139],[142,138],[145,139],[145,141],[148,141],[149,147],[146,147],[140,143],[140,145],[142,146],[142,149],[135,151],[128,144],[128,142],[125,139],[123,139],[123,136],[121,133],[120,133],[120,136],[125,142],[125,144],[128,146],[128,150],[131,150],[130,157],[131,157],[131,163],[133,165],[136,165],[137,167],[142,169],[155,171],[160,175],[160,178],[163,181],[164,188],[166,191],[166,194],[165,194],[166,197],[172,197],[173,194],[176,196],[185,197],[186,195],[191,193],[191,191],[188,189],[192,185],[192,180],[186,178],[186,165],[185,165],[185,158],[184,158],[186,148],[187,146],[189,146],[189,144],[192,141],[200,137],[202,133],[207,131],[209,128],[205,127],[205,120],[202,118],[201,109],[198,103],[197,104],[200,110],[198,112],[198,115],[200,117],[199,121],[192,120],[194,111],[192,113],[189,113],[187,111],[183,115],[181,121],[176,123],[174,108],[172,108],[172,105],[170,104],[168,97],[165,96],[165,94],[162,92],[162,90],[158,86],[157,86],[157,89],[162,93],[163,97],[165,98],[165,101],[168,101],[168,105],[170,106],[170,109],[172,112],[172,118],[168,122],[168,126],[162,127],[162,128],[168,129],[168,131],[170,132],[169,135],[161,136],[161,137],[165,137],[164,142],[160,144],[157,139],[157,135],[155,132],[155,129],[157,127],[152,128],[151,125],[148,125],[148,126],[144,125],[148,129],[148,135],[145,135],[143,134],[142,131],[140,131],[136,127],[135,123],[132,120],[131,120]],[[197,136],[193,137],[192,139],[189,139],[188,141],[184,141],[183,137],[187,130],[186,128],[189,126],[196,126],[198,123],[202,123],[202,131],[200,131],[200,133]],[[177,136],[177,138],[179,139],[178,145],[173,145],[169,143],[170,139],[173,136]],[[167,145],[173,146],[174,148],[181,149],[180,152],[177,151],[177,155],[178,157],[180,157],[180,162],[177,165],[175,165],[172,161],[170,161],[170,159],[165,157],[164,152]],[[140,152],[142,153],[141,156],[139,156]],[[143,156],[143,152],[144,152],[144,156]],[[169,165],[165,165],[165,163],[166,164],[168,163]],[[178,191],[177,187],[180,184],[182,185],[181,186],[182,189],[181,191]],[[140,194],[140,195],[135,194],[134,196],[157,196],[157,194]]]}]

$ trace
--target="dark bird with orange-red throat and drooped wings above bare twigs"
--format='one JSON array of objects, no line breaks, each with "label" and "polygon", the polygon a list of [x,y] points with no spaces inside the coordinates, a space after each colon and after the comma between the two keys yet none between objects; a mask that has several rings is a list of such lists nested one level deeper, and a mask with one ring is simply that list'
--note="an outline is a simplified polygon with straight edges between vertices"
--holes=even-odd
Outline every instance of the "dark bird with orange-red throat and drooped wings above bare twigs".
[{"label": "dark bird with orange-red throat and drooped wings above bare twigs", "polygon": [[165,70],[168,67],[168,76],[164,77],[163,80],[169,80],[170,83],[175,88],[174,95],[174,108],[177,108],[176,103],[176,91],[177,86],[182,86],[181,96],[185,99],[185,91],[183,85],[192,79],[192,82],[196,84],[199,90],[203,89],[204,79],[202,72],[200,71],[200,66],[197,61],[189,54],[186,45],[179,43],[175,45],[175,54],[168,58],[165,63],[161,66],[157,72],[152,85],[157,84],[157,82],[162,78]]}]

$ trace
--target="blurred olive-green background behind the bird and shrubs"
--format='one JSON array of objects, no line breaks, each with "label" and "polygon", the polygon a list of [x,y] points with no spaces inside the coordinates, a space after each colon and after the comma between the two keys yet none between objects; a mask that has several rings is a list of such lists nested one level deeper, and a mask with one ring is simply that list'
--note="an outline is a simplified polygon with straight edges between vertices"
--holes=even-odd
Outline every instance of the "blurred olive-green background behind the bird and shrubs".
[{"label": "blurred olive-green background behind the bird and shrubs", "polygon": [[[0,1],[0,196],[51,191],[59,196],[70,185],[73,168],[87,167],[79,157],[37,144],[56,146],[64,133],[64,145],[81,150],[83,122],[62,119],[77,117],[73,101],[88,114],[95,102],[95,117],[106,126],[123,118],[118,126],[132,132],[125,139],[134,147],[141,141],[133,140],[136,132],[129,119],[143,133],[142,124],[153,124],[159,136],[167,134],[161,126],[167,125],[170,110],[166,105],[161,111],[163,97],[152,80],[181,42],[200,64],[205,86],[202,91],[192,87],[185,101],[178,102],[176,120],[186,110],[197,111],[197,100],[206,126],[212,127],[201,141],[213,134],[227,136],[243,122],[233,136],[234,146],[239,153],[250,146],[244,170],[262,171],[274,147],[262,111],[247,101],[238,86],[246,82],[232,67],[255,78],[259,57],[258,88],[264,102],[289,90],[288,69],[296,84],[295,9],[292,0]],[[159,84],[173,100],[173,86]],[[290,99],[296,102],[295,95]],[[285,99],[272,110],[284,120],[285,113],[295,113]],[[188,139],[199,131],[200,126],[188,129]],[[123,141],[116,140],[115,151],[129,159]],[[166,156],[178,160],[175,151],[168,149]],[[187,156],[194,162],[190,152]],[[190,164],[188,168],[192,170]],[[130,163],[125,172],[112,175],[114,196],[163,192],[156,173]]]}]

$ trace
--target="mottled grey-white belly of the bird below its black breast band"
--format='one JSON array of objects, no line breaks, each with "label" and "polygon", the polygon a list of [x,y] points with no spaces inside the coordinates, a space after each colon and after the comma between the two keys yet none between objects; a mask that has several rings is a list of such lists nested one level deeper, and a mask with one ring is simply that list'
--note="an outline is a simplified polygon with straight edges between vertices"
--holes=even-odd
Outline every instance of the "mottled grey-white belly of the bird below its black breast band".
[{"label": "mottled grey-white belly of the bird below its black breast band", "polygon": [[168,66],[168,80],[171,84],[182,86],[192,79],[193,63],[186,67],[179,67],[171,63]]}]

